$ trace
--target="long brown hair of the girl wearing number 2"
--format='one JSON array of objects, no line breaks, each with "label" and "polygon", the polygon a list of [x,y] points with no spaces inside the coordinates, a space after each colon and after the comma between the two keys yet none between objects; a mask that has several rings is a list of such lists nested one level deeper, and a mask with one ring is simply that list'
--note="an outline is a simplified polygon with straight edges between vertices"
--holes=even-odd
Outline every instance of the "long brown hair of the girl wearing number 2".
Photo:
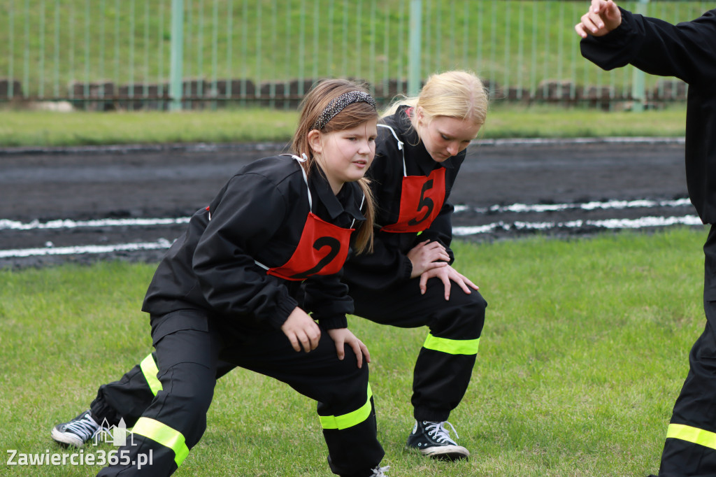
[{"label": "long brown hair of the girl wearing number 2", "polygon": [[[318,120],[329,102],[347,92],[367,90],[362,85],[357,85],[349,80],[323,80],[317,83],[311,91],[304,97],[301,102],[301,115],[299,117],[299,126],[296,127],[294,139],[291,141],[291,153],[295,155],[306,154],[305,167],[306,173],[311,173],[316,167],[313,150],[309,145],[309,133],[313,129],[316,120]],[[363,122],[377,120],[378,112],[375,107],[367,102],[353,102],[343,108],[341,112],[335,115],[321,129],[321,133],[334,133],[356,127]],[[370,181],[363,177],[358,181],[358,186],[365,195],[364,216],[365,223],[360,226],[356,236],[356,251],[362,253],[364,251],[373,251],[373,221],[375,218],[375,205],[373,195],[370,191]]]}]

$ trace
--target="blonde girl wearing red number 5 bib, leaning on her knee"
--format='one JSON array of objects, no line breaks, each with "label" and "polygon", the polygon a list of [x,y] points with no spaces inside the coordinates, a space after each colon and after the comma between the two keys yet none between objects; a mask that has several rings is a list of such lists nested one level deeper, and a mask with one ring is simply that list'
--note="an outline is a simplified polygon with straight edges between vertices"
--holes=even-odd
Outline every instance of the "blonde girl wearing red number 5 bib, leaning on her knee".
[{"label": "blonde girl wearing red number 5 bib, leaning on her knee", "polygon": [[354,314],[430,328],[415,364],[415,425],[407,447],[444,460],[470,454],[445,424],[470,382],[487,306],[478,286],[453,269],[448,198],[487,107],[475,74],[450,71],[433,74],[420,95],[388,110],[368,171],[376,200],[374,250],[352,257],[344,269]]}]

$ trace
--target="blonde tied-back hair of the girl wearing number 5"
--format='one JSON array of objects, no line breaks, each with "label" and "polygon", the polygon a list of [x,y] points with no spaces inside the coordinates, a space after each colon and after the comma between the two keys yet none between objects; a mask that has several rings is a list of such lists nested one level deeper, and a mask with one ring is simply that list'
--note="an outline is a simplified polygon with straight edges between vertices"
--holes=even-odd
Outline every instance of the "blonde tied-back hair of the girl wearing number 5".
[{"label": "blonde tied-back hair of the girl wearing number 5", "polygon": [[431,74],[419,95],[398,98],[383,117],[395,114],[401,105],[420,108],[428,124],[433,117],[448,116],[482,126],[488,114],[488,95],[476,74],[456,69]]}]

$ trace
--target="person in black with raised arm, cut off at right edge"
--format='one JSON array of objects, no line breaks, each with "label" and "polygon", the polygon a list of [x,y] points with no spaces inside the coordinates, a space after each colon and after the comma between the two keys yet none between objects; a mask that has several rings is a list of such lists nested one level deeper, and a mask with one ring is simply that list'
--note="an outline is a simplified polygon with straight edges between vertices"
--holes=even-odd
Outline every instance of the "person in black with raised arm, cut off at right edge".
[{"label": "person in black with raised arm, cut off at right edge", "polygon": [[575,26],[582,55],[604,69],[633,64],[687,82],[686,180],[706,243],[706,326],[674,404],[660,477],[716,476],[716,9],[677,25],[593,0]]}]

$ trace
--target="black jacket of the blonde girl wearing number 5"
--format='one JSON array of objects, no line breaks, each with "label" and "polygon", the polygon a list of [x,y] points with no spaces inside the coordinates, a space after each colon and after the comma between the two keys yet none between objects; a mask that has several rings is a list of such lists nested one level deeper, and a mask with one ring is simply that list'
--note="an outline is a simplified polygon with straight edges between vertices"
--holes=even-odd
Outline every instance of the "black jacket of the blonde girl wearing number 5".
[{"label": "black jacket of the blonde girl wearing number 5", "polygon": [[430,228],[416,232],[384,232],[381,226],[395,223],[400,214],[400,193],[403,178],[403,151],[398,149],[397,140],[386,127],[378,127],[375,158],[367,176],[371,180],[371,188],[376,201],[376,226],[374,252],[372,254],[354,255],[344,267],[344,281],[358,284],[364,288],[383,290],[387,286],[398,284],[410,279],[412,264],[407,252],[421,241],[438,241],[448,249],[450,262],[453,252],[450,242],[453,240],[452,213],[453,206],[448,202],[460,165],[465,160],[466,151],[437,163],[425,150],[415,129],[410,123],[406,110],[401,106],[394,115],[384,117],[381,121],[395,130],[405,149],[405,167],[407,175],[430,175],[432,170],[445,168],[445,202],[440,214],[432,222]]}]

